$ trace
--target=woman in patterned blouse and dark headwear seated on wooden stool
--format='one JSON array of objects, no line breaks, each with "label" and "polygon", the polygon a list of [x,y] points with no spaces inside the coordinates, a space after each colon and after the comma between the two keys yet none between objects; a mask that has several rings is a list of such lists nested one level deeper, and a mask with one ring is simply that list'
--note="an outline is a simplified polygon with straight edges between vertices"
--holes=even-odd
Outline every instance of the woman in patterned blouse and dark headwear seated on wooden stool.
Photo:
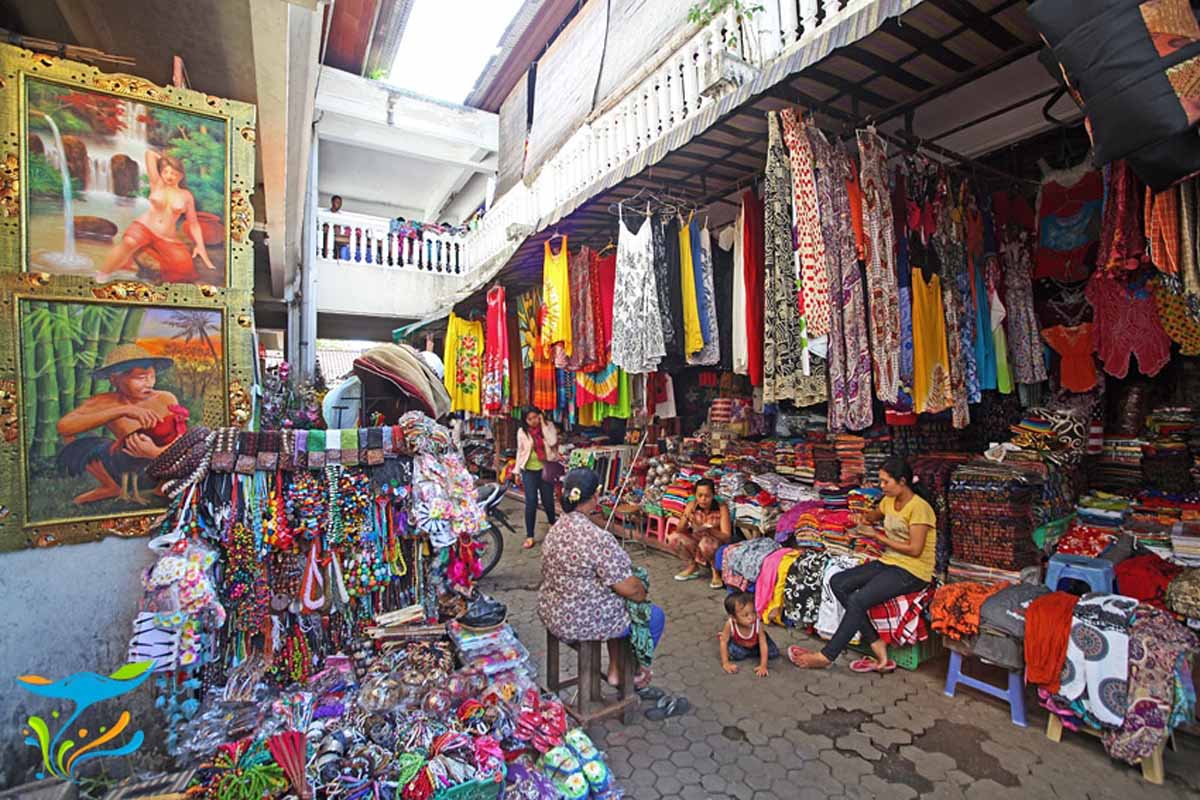
[{"label": "woman in patterned blouse and dark headwear seated on wooden stool", "polygon": [[[646,587],[634,577],[629,553],[588,515],[599,505],[600,477],[590,469],[572,469],[563,479],[563,510],[542,542],[538,615],[546,630],[565,642],[608,642],[608,682],[617,685],[620,639],[630,633],[625,600],[642,602]],[[666,627],[662,609],[650,612],[650,638],[658,646]],[[640,669],[637,688],[650,682]]]}]

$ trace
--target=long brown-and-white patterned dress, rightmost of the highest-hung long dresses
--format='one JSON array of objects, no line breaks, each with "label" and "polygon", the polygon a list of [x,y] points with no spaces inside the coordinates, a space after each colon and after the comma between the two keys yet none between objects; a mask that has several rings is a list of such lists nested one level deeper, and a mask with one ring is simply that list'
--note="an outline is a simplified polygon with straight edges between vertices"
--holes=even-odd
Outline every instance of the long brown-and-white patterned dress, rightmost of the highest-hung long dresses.
[{"label": "long brown-and-white patterned dress, rightmost of the highest-hung long dresses", "polygon": [[875,128],[858,132],[862,161],[863,233],[870,299],[875,396],[895,403],[900,392],[900,293],[896,284],[895,227],[887,180],[887,149]]}]

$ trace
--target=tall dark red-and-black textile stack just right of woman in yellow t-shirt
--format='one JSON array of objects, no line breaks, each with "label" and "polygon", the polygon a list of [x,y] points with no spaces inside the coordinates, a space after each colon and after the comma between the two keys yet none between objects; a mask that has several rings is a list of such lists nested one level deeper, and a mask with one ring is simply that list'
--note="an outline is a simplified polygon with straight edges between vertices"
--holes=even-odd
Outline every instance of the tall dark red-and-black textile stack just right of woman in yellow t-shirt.
[{"label": "tall dark red-and-black textile stack just right of woman in yellow t-shirt", "polygon": [[1037,564],[1042,491],[1043,477],[1021,465],[979,459],[959,467],[950,481],[954,558],[1010,571]]}]

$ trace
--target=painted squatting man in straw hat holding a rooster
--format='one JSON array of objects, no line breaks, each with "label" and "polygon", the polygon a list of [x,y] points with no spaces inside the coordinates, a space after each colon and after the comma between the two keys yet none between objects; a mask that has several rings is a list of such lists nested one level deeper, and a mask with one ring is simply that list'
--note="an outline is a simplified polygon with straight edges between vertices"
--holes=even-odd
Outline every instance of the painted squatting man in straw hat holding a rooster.
[{"label": "painted squatting man in straw hat holding a rooster", "polygon": [[[138,486],[142,471],[187,431],[187,409],[170,392],[155,389],[158,372],[173,365],[137,344],[120,344],[92,371],[113,391],[88,398],[58,425],[66,441],[59,469],[71,476],[88,473],[100,485],[77,495],[76,505],[109,499],[149,503]],[[102,427],[113,435],[80,435]]]}]

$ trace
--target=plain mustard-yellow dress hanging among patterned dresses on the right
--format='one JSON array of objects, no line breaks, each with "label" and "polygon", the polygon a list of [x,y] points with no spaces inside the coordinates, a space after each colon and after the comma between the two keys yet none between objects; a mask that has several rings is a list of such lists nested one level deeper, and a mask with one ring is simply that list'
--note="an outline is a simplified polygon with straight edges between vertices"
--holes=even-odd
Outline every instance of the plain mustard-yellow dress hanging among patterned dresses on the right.
[{"label": "plain mustard-yellow dress hanging among patterned dresses on the right", "polygon": [[935,275],[926,283],[917,266],[912,269],[912,389],[913,410],[918,414],[954,405],[942,278]]}]

